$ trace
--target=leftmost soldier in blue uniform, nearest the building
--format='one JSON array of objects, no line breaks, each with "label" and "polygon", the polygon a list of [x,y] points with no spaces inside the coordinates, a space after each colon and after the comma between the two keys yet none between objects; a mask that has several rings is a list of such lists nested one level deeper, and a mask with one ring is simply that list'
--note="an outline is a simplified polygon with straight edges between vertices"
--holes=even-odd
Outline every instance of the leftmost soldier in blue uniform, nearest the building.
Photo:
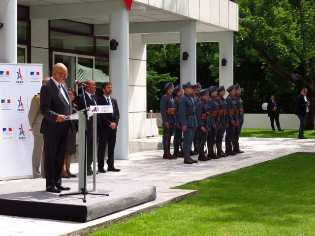
[{"label": "leftmost soldier in blue uniform, nearest the building", "polygon": [[175,104],[174,99],[172,97],[172,93],[174,92],[173,83],[167,83],[164,87],[166,93],[161,97],[160,100],[160,111],[162,117],[162,127],[163,127],[163,158],[164,159],[175,159],[173,155],[170,154],[170,144],[171,137],[174,132],[174,124],[176,122],[175,118]]}]

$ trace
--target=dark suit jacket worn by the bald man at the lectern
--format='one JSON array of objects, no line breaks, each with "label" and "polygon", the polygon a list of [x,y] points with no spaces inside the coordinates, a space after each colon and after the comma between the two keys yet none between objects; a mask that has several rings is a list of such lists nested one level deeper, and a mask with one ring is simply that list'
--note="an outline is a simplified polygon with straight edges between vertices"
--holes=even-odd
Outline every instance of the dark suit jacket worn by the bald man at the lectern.
[{"label": "dark suit jacket worn by the bald man at the lectern", "polygon": [[[65,94],[68,95],[68,87],[62,83]],[[67,135],[71,128],[71,121],[56,122],[58,115],[69,116],[72,114],[71,100],[68,95],[69,104],[60,92],[54,81],[50,79],[40,89],[40,112],[44,118],[41,123],[40,132],[49,135]]]}]

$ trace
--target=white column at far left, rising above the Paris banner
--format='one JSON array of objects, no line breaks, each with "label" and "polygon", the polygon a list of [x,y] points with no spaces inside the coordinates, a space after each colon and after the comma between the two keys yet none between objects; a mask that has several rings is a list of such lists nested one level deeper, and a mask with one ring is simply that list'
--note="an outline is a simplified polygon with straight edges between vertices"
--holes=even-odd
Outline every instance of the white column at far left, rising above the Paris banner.
[{"label": "white column at far left, rising above the Paris banner", "polygon": [[18,5],[17,0],[1,0],[0,21],[0,62],[17,63],[18,55]]}]

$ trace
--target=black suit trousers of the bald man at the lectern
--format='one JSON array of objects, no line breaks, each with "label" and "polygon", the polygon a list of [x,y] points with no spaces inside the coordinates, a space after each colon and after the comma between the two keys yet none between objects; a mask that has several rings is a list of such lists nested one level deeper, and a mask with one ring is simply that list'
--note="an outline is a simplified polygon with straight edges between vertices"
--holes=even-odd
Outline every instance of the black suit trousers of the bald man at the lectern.
[{"label": "black suit trousers of the bald man at the lectern", "polygon": [[68,135],[44,134],[45,176],[46,187],[61,185],[61,172],[63,169]]}]

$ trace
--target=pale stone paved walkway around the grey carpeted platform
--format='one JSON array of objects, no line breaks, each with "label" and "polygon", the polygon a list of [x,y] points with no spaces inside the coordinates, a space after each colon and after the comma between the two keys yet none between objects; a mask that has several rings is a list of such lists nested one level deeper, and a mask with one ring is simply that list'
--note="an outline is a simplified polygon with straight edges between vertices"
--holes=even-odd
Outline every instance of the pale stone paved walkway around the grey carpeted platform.
[{"label": "pale stone paved walkway around the grey carpeted platform", "polygon": [[[97,181],[117,184],[155,185],[157,187],[157,199],[155,201],[87,223],[0,215],[0,235],[59,236],[87,234],[112,223],[139,215],[149,209],[197,194],[197,191],[194,190],[170,189],[171,187],[215,177],[298,151],[315,152],[314,139],[241,138],[240,147],[245,151],[242,154],[186,165],[183,164],[183,158],[177,160],[162,159],[161,137],[131,140],[129,142],[129,159],[115,161],[115,166],[122,169],[122,171],[98,174]],[[196,156],[192,157],[196,159]],[[78,164],[71,164],[71,171],[77,173]],[[66,181],[67,179],[63,179],[64,185],[66,185]],[[0,181],[0,184],[6,182],[8,181],[3,180]],[[87,187],[89,186],[92,187],[92,177],[88,177]],[[87,201],[89,201],[88,195]]]}]

